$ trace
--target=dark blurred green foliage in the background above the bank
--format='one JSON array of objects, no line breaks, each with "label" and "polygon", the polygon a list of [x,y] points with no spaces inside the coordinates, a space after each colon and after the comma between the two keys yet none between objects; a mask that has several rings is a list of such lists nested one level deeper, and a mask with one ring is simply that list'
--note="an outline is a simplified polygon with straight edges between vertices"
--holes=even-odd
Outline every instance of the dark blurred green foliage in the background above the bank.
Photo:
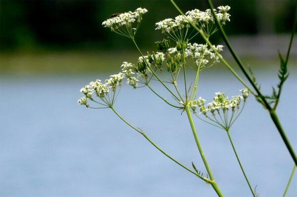
[{"label": "dark blurred green foliage in the background above the bank", "polygon": [[[207,8],[205,0],[177,0],[182,10]],[[214,0],[231,6],[228,35],[282,33],[292,28],[294,0]],[[142,48],[154,48],[163,35],[155,22],[178,15],[169,0],[1,0],[0,50],[129,50],[133,46],[104,28],[112,13],[146,7],[137,40]],[[145,38],[145,39],[143,39]],[[212,39],[219,39],[216,34]]]}]

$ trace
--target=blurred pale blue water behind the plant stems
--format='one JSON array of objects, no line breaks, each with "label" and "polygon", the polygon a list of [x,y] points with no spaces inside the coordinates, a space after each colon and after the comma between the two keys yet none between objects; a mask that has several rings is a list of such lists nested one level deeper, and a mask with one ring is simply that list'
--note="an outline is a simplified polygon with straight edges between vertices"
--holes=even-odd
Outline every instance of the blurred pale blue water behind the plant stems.
[{"label": "blurred pale blue water behind the plant stems", "polygon": [[[272,72],[258,75],[263,90],[276,83]],[[286,82],[277,111],[295,151],[296,76],[291,73]],[[79,89],[97,77],[1,78],[0,196],[215,197],[209,185],[165,157],[110,109],[76,104]],[[210,101],[214,92],[232,96],[241,88],[227,71],[210,70],[200,76],[198,91]],[[155,90],[171,99],[161,87]],[[181,115],[147,88],[134,91],[126,85],[115,108],[174,158],[191,169],[193,161],[205,174],[185,113]],[[250,197],[226,133],[197,118],[194,121],[221,192],[226,197]],[[230,132],[260,197],[282,196],[293,161],[268,113],[249,98]],[[297,175],[291,184],[287,197],[296,197]]]}]

